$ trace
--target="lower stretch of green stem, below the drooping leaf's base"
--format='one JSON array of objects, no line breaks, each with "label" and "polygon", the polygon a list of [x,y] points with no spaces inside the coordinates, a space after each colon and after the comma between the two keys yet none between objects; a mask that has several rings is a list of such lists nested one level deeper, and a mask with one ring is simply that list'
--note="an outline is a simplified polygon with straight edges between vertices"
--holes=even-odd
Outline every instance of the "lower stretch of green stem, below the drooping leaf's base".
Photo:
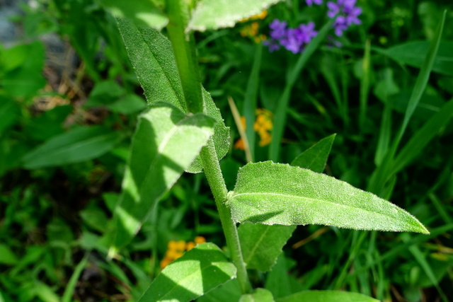
[{"label": "lower stretch of green stem, below the drooping leaf's base", "polygon": [[234,223],[231,217],[231,211],[225,204],[228,190],[226,190],[222,170],[220,170],[219,160],[217,159],[214,141],[212,141],[212,139],[210,139],[207,146],[203,147],[200,156],[207,181],[209,182],[212,194],[214,195],[217,210],[219,211],[220,221],[226,238],[226,245],[228,245],[231,260],[233,260],[237,269],[237,278],[239,285],[241,286],[241,291],[243,294],[247,294],[251,291],[251,284],[248,279],[246,264],[243,262],[236,223]]}]

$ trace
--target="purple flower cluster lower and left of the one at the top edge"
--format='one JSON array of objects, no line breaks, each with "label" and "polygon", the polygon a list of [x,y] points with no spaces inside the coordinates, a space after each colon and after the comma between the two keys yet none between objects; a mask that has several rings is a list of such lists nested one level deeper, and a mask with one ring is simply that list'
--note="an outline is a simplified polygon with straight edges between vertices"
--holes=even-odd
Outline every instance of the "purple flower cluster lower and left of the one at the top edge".
[{"label": "purple flower cluster lower and left of the one at the top edge", "polygon": [[[318,1],[318,0],[316,0]],[[266,40],[264,45],[269,47],[269,51],[280,50],[280,47],[285,47],[293,54],[303,52],[307,45],[318,32],[314,30],[314,23],[301,24],[297,28],[287,28],[285,21],[275,19],[269,25],[270,40]]]}]

